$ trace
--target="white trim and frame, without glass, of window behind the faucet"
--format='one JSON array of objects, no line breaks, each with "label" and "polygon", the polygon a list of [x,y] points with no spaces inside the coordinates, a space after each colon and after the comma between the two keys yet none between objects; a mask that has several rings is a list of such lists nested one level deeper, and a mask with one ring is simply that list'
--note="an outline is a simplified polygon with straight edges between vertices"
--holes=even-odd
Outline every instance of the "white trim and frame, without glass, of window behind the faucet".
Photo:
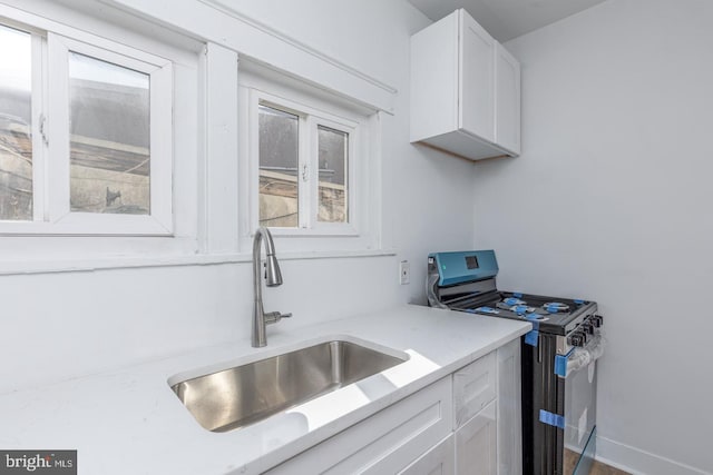
[{"label": "white trim and frame, without glass, of window behind the faucet", "polygon": [[[287,111],[319,118],[325,127],[350,132],[349,224],[319,222],[312,228],[270,227],[280,240],[281,254],[351,253],[381,249],[381,176],[379,112],[328,93],[286,75],[252,61],[241,60],[240,82],[240,249],[247,253],[258,227],[258,130],[257,107],[261,100]],[[316,133],[314,127],[313,133]],[[316,137],[310,142],[316,146]],[[305,151],[309,154],[309,151]],[[314,168],[314,167],[312,167]],[[318,170],[311,170],[311,180]],[[316,182],[316,181],[314,181]],[[316,185],[315,185],[316,191]],[[315,210],[316,196],[311,197]]]}]

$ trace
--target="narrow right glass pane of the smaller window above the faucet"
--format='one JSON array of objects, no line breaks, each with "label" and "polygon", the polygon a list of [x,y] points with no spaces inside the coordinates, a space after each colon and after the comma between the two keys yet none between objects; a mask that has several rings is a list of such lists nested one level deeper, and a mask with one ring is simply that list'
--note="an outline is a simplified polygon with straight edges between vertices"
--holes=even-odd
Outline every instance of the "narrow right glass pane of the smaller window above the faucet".
[{"label": "narrow right glass pane of the smaller window above the faucet", "polygon": [[318,220],[348,221],[349,133],[320,126],[320,209]]}]

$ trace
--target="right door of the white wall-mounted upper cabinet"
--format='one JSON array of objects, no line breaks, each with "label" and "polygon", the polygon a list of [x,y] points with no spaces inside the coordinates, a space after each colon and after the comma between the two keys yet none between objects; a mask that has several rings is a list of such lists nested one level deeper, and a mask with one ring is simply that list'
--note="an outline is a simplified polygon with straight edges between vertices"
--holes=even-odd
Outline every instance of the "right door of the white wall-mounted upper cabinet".
[{"label": "right door of the white wall-mounted upper cabinet", "polygon": [[496,44],[495,141],[520,154],[520,63],[502,44]]}]

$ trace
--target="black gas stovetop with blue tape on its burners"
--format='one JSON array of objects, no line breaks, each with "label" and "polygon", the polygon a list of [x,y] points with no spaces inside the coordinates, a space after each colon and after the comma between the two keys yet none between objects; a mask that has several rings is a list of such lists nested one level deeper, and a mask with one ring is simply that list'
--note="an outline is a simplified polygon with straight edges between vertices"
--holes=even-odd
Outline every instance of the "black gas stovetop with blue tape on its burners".
[{"label": "black gas stovetop with blue tape on its burners", "polygon": [[494,291],[451,303],[450,308],[479,315],[538,321],[539,330],[555,335],[572,331],[580,319],[597,310],[594,301]]}]

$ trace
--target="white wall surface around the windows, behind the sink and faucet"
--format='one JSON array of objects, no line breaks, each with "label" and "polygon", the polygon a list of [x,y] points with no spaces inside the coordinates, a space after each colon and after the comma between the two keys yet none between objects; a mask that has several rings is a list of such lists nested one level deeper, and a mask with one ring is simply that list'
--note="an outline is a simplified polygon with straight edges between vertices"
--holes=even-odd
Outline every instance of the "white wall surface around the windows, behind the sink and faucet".
[{"label": "white wall surface around the windows, behind the sink and faucet", "polygon": [[[409,37],[429,21],[406,1],[296,3],[240,8],[399,91],[381,139],[383,234],[397,254],[283,261],[284,285],[264,293],[265,308],[294,316],[268,335],[423,300],[426,253],[469,247],[475,229],[472,202],[462,199],[473,167],[408,142]],[[409,286],[398,285],[400,259],[411,261]],[[223,342],[250,345],[251,279],[250,263],[0,276],[0,393]]]}]

